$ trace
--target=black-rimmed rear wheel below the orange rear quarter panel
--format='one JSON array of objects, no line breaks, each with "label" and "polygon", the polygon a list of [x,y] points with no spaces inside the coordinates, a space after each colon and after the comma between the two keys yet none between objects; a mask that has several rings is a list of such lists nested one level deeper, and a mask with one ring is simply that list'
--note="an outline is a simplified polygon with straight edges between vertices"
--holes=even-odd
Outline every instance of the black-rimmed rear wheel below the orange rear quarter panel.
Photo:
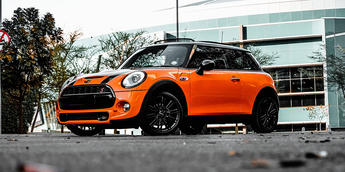
[{"label": "black-rimmed rear wheel below the orange rear quarter panel", "polygon": [[256,133],[270,133],[274,131],[278,122],[278,107],[272,98],[264,97],[256,107],[256,116],[250,127]]}]

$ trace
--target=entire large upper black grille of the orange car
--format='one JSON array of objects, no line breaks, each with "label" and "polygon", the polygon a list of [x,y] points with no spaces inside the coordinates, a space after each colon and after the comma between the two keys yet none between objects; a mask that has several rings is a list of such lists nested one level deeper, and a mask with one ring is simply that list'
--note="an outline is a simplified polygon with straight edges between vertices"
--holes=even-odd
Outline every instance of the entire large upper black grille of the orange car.
[{"label": "entire large upper black grille of the orange car", "polygon": [[78,85],[65,88],[59,98],[63,110],[110,108],[115,104],[115,94],[108,85]]}]

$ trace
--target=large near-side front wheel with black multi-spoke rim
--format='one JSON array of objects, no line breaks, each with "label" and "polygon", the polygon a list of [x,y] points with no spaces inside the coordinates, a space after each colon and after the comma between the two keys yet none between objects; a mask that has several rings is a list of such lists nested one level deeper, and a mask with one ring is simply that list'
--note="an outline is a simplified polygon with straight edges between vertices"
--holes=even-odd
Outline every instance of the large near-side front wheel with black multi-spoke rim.
[{"label": "large near-side front wheel with black multi-spoke rim", "polygon": [[167,92],[149,99],[140,128],[151,136],[174,133],[182,121],[182,107],[178,99]]}]

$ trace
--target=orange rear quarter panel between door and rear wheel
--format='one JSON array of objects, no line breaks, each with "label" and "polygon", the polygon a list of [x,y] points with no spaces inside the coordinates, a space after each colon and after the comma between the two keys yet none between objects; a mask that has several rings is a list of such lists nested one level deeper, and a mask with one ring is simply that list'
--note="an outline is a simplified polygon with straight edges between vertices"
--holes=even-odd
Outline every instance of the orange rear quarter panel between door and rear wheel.
[{"label": "orange rear quarter panel between door and rear wheel", "polygon": [[243,98],[240,114],[252,114],[255,98],[259,91],[266,87],[275,88],[272,77],[265,72],[236,71],[243,81]]}]

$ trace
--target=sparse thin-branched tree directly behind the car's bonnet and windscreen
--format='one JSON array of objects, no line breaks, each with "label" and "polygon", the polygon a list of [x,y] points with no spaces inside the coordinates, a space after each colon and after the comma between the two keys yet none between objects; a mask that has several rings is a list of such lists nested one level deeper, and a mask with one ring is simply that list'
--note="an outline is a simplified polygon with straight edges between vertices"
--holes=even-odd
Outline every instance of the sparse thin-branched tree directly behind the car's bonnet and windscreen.
[{"label": "sparse thin-branched tree directly behind the car's bonnet and windscreen", "polygon": [[106,68],[116,69],[136,50],[152,44],[151,36],[142,36],[144,33],[145,30],[138,30],[136,33],[115,32],[100,37],[100,49],[108,55],[102,57],[100,63]]}]

